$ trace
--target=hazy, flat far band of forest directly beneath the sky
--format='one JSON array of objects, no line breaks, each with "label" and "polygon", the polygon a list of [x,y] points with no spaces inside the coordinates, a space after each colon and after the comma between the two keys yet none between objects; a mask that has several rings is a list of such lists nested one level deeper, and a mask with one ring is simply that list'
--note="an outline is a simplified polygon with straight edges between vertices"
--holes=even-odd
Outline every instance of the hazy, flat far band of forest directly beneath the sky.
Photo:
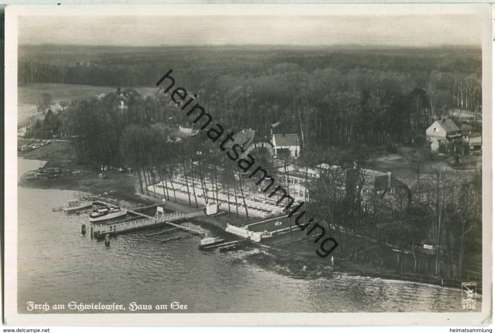
[{"label": "hazy, flat far band of forest directly beneath the sky", "polygon": [[[481,77],[481,49],[357,47],[162,47],[117,48],[77,46],[19,47],[19,84],[64,83],[91,86],[152,86],[156,72],[168,67],[194,74],[188,85],[204,87],[204,78],[222,75],[271,75],[279,64],[312,73],[332,68],[346,74],[358,68],[420,76],[441,72]],[[417,75],[416,75],[417,76]]]}]

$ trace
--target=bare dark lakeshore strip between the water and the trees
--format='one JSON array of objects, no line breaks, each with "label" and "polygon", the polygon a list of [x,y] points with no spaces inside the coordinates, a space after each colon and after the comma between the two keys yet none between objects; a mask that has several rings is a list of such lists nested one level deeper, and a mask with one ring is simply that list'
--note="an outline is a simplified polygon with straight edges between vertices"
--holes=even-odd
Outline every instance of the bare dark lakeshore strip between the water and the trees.
[{"label": "bare dark lakeshore strip between the water and the trees", "polygon": [[[26,156],[19,156],[24,159]],[[45,163],[47,165],[49,161]],[[106,171],[108,179],[99,180],[98,172],[86,170],[84,173],[77,176],[71,176],[69,173],[63,174],[61,177],[54,179],[42,179],[37,181],[28,181],[21,177],[17,186],[24,188],[35,189],[58,189],[58,190],[75,190],[92,195],[101,195],[102,198],[108,197],[111,200],[117,200],[123,205],[139,208],[141,205],[157,204],[162,202],[163,194],[158,194],[154,197],[151,193],[148,195],[140,193],[139,182],[136,176],[130,173],[119,174],[116,171]],[[166,201],[166,207],[174,211],[189,213],[193,211],[202,211],[202,206],[195,207],[194,201],[192,205],[188,202],[183,202],[177,199]],[[199,224],[202,228],[208,229],[214,233],[225,234],[225,224],[232,222],[233,219],[238,219],[237,222],[242,223],[246,218],[237,218],[235,213],[224,213],[217,217],[200,216],[192,220],[192,223]],[[230,234],[229,234],[230,235]],[[317,279],[325,276],[331,276],[336,273],[347,274],[351,276],[361,276],[370,278],[380,278],[385,280],[399,280],[411,283],[421,283],[445,287],[458,287],[460,283],[457,280],[444,280],[438,277],[427,277],[414,273],[400,274],[395,270],[373,265],[372,263],[361,262],[350,258],[338,259],[339,252],[336,252],[337,259],[335,265],[332,266],[329,260],[322,261],[317,258],[314,253],[296,253],[284,248],[267,246],[263,244],[250,243],[250,248],[256,248],[259,251],[249,253],[244,257],[247,262],[256,265],[259,268],[274,271],[279,274],[290,276],[296,279]],[[304,262],[301,265],[301,261]],[[481,293],[481,292],[480,292]]]}]

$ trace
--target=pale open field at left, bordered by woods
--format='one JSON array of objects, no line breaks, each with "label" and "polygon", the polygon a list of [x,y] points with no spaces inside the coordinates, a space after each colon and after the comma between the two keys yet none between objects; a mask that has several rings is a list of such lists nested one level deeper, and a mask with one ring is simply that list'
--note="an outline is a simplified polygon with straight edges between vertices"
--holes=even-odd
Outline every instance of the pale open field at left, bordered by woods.
[{"label": "pale open field at left, bordered by woods", "polygon": [[[121,87],[125,89],[127,87]],[[155,93],[154,87],[138,87],[134,88],[140,94]],[[117,87],[96,87],[82,85],[63,85],[56,83],[33,83],[19,86],[17,88],[17,123],[25,124],[25,122],[33,115],[36,115],[38,110],[38,102],[41,100],[43,93],[51,95],[54,103],[61,101],[69,101],[71,99],[88,98],[99,94],[113,93]]]}]

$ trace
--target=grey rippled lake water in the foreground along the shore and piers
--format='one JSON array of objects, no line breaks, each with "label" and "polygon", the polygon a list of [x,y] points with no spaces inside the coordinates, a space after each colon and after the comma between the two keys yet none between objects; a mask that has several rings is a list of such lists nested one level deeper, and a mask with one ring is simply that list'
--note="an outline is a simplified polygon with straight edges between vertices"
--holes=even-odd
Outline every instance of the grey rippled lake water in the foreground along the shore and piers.
[{"label": "grey rippled lake water in the foreground along the shore and piers", "polygon": [[[19,159],[19,176],[39,166]],[[90,238],[87,216],[52,212],[76,193],[18,188],[19,313],[45,313],[28,311],[28,301],[65,305],[49,313],[77,312],[67,308],[71,301],[115,302],[126,313],[131,302],[168,305],[135,313],[170,313],[172,302],[187,304],[184,312],[462,311],[459,289],[346,274],[295,279],[243,260],[242,250],[201,252],[199,237],[161,243],[168,236],[147,238],[149,231],[141,231],[111,238],[106,248]]]}]

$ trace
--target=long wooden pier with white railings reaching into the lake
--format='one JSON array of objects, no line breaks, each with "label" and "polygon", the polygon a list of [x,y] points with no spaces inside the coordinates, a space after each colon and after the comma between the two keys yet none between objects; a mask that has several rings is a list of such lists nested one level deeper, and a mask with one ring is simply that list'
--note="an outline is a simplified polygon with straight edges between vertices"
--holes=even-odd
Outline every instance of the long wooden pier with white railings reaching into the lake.
[{"label": "long wooden pier with white railings reaching into the lake", "polygon": [[[132,211],[131,211],[132,212]],[[108,224],[108,225],[100,225],[99,227],[96,227],[93,232],[93,236],[97,239],[102,239],[105,238],[106,235],[109,236],[115,236],[119,234],[125,234],[131,231],[135,230],[140,230],[140,229],[145,229],[145,228],[150,228],[154,226],[159,226],[162,224],[167,224],[169,226],[172,226],[177,229],[181,229],[183,231],[186,231],[191,234],[195,235],[200,235],[203,236],[203,233],[193,229],[189,228],[186,226],[182,226],[173,222],[181,221],[181,220],[186,220],[194,217],[198,217],[200,215],[203,215],[202,212],[193,212],[189,214],[182,214],[182,213],[170,213],[170,214],[162,214],[162,215],[157,215],[157,216],[147,216],[144,214],[138,214],[142,216],[146,216],[144,219],[140,220],[134,220],[134,221],[123,221],[123,222],[118,222],[114,224]]]}]

